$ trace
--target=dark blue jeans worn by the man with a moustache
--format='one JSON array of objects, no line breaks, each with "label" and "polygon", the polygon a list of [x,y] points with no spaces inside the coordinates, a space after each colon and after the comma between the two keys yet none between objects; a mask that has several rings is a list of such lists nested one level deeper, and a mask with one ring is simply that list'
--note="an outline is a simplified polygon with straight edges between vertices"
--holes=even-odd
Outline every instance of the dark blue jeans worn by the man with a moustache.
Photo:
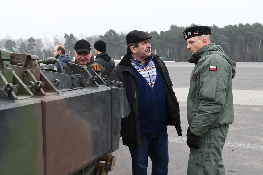
[{"label": "dark blue jeans worn by the man with a moustache", "polygon": [[129,146],[132,159],[132,174],[147,175],[148,157],[152,160],[152,175],[168,173],[167,129],[154,133],[141,133],[142,149]]}]

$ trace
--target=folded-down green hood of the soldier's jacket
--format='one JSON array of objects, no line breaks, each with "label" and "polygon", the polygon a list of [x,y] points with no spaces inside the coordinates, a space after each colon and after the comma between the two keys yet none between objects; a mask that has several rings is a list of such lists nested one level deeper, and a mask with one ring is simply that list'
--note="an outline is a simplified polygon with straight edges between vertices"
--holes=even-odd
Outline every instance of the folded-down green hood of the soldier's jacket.
[{"label": "folded-down green hood of the soldier's jacket", "polygon": [[204,61],[206,57],[210,54],[218,54],[224,59],[226,59],[232,67],[232,78],[236,76],[236,61],[230,59],[223,51],[223,48],[219,45],[216,45],[215,43],[210,43],[202,49],[200,49],[199,51],[197,51],[196,53],[194,53],[188,60],[188,62],[197,64],[200,61]]}]

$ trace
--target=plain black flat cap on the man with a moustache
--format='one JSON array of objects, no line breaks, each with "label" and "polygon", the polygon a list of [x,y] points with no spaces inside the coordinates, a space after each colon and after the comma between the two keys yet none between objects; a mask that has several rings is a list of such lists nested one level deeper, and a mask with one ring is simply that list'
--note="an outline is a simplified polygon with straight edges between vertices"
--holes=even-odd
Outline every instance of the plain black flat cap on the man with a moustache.
[{"label": "plain black flat cap on the man with a moustache", "polygon": [[152,36],[149,35],[148,33],[143,32],[143,31],[134,30],[134,31],[129,32],[126,35],[126,43],[127,44],[136,43],[136,42],[142,41],[144,39],[149,39],[149,38],[152,38]]}]

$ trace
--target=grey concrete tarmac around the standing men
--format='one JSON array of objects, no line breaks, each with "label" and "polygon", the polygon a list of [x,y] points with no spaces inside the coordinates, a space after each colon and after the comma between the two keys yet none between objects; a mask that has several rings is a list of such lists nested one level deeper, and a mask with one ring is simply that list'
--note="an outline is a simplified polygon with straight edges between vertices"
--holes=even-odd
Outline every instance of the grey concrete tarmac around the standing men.
[{"label": "grey concrete tarmac around the standing men", "polygon": [[[189,148],[186,144],[188,128],[186,101],[193,63],[165,62],[173,89],[180,104],[182,136],[168,126],[169,175],[186,175]],[[263,174],[263,63],[237,62],[233,82],[234,122],[230,125],[223,147],[226,175]],[[113,153],[117,157],[115,169],[109,175],[132,174],[131,156],[122,144]],[[151,160],[147,174],[151,174]]]}]

